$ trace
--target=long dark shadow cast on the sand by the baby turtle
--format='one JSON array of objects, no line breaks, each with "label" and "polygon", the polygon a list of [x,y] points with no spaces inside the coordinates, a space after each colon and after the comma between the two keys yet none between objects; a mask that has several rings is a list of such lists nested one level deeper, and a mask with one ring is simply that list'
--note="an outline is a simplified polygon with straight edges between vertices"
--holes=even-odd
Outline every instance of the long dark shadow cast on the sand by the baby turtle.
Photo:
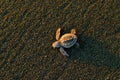
[{"label": "long dark shadow cast on the sand by the baby turtle", "polygon": [[109,53],[105,48],[105,43],[86,36],[78,38],[78,42],[80,43],[80,48],[72,47],[67,49],[71,60],[78,60],[80,63],[93,64],[95,66],[120,67],[120,58],[116,54]]}]

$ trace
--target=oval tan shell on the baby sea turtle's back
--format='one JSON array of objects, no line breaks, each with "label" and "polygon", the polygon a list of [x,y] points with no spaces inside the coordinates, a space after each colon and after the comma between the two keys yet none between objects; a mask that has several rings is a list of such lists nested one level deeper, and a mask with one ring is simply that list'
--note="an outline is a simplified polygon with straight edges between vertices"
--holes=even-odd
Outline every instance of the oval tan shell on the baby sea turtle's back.
[{"label": "oval tan shell on the baby sea turtle's back", "polygon": [[64,34],[59,41],[61,46],[65,48],[70,48],[76,43],[77,36],[71,33],[67,33]]}]

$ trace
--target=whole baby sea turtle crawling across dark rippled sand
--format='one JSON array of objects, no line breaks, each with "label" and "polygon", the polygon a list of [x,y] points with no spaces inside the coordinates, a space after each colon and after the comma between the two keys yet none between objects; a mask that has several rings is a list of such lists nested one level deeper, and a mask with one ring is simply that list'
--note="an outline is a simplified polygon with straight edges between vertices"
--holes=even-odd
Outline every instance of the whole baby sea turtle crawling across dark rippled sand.
[{"label": "whole baby sea turtle crawling across dark rippled sand", "polygon": [[59,48],[60,52],[64,55],[69,57],[69,55],[67,54],[67,52],[64,50],[64,48],[70,48],[73,45],[77,45],[79,46],[79,43],[77,43],[77,36],[76,34],[76,30],[75,29],[71,29],[70,33],[66,33],[64,35],[62,35],[60,37],[60,31],[61,28],[58,28],[56,30],[56,40],[53,44],[52,47],[53,48]]}]

